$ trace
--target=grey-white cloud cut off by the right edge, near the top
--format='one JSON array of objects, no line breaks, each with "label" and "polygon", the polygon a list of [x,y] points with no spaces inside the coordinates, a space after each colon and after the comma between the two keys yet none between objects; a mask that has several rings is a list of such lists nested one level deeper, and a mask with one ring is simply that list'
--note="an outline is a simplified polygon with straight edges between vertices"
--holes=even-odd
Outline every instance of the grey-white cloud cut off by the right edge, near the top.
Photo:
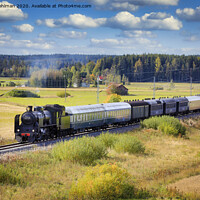
[{"label": "grey-white cloud cut off by the right edge, near the top", "polygon": [[177,9],[176,14],[187,21],[200,21],[200,6],[193,8],[184,8],[183,10]]}]

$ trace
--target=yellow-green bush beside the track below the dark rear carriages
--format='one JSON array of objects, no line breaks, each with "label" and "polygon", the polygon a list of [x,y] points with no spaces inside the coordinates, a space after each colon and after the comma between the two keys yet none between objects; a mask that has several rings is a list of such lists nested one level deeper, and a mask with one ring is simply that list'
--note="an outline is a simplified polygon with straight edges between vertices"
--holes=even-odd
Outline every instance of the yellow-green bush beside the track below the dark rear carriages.
[{"label": "yellow-green bush beside the track below the dark rear carriages", "polygon": [[186,128],[180,121],[177,118],[170,116],[145,119],[142,122],[142,127],[159,129],[162,133],[173,136],[185,135],[186,132]]}]

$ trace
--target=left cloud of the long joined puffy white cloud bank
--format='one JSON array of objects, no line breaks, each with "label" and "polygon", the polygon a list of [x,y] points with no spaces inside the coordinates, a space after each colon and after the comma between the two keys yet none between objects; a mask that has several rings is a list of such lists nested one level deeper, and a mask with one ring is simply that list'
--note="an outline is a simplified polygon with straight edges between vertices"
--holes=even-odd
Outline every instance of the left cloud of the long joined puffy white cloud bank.
[{"label": "left cloud of the long joined puffy white cloud bank", "polygon": [[50,28],[55,27],[74,27],[78,29],[84,28],[96,28],[104,24],[105,18],[93,19],[82,14],[72,14],[68,17],[63,17],[60,19],[45,19],[37,20],[38,25],[46,25]]}]

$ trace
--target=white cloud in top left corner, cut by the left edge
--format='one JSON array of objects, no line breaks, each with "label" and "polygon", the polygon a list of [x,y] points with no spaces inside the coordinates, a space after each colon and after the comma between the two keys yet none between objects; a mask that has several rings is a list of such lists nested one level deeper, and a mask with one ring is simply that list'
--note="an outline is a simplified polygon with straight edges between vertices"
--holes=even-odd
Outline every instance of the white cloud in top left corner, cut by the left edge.
[{"label": "white cloud in top left corner, cut by the left edge", "polygon": [[0,2],[0,22],[24,20],[27,16],[13,4],[7,1]]}]

